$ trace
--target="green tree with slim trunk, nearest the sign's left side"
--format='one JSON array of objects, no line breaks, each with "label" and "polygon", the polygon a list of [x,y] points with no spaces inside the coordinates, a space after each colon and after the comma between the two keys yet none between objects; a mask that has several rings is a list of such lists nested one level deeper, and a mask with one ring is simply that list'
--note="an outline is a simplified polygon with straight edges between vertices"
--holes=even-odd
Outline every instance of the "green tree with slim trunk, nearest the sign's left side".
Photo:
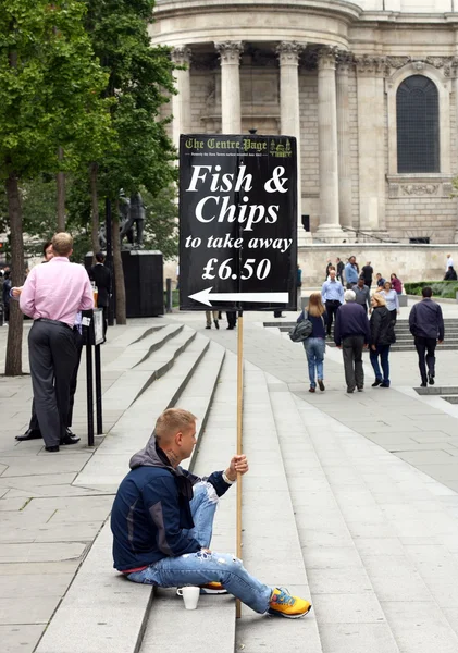
[{"label": "green tree with slim trunk, nearest the sign's left side", "polygon": [[[125,291],[117,247],[117,204],[123,188],[126,195],[144,186],[153,196],[176,180],[176,151],[159,118],[160,107],[175,93],[174,64],[170,49],[151,47],[148,23],[152,22],[153,0],[86,0],[87,29],[94,50],[109,75],[106,95],[111,107],[115,141],[98,169],[97,187],[112,200],[113,263],[116,287],[116,321],[125,323]],[[92,202],[94,206],[95,202]]]}]

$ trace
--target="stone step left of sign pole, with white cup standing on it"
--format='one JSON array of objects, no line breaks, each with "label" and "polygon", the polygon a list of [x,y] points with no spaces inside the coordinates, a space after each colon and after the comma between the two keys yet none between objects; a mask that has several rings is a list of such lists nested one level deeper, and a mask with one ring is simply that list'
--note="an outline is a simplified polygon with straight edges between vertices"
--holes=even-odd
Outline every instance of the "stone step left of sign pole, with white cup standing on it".
[{"label": "stone step left of sign pole, with white cup standing on it", "polygon": [[[206,356],[207,365],[207,356]],[[189,386],[197,385],[199,366]],[[214,368],[213,368],[214,370]],[[199,439],[194,471],[208,476],[215,469],[227,467],[236,449],[236,356],[227,353],[215,387],[213,403],[205,426],[205,436]],[[202,380],[203,381],[203,380]],[[208,373],[205,381],[208,381]],[[196,382],[196,383],[195,383]],[[200,426],[203,415],[189,403],[195,390],[186,389],[178,405],[195,412]],[[211,547],[219,552],[235,551],[236,489],[232,488],[221,500],[214,520]],[[139,653],[176,653],[177,651],[235,651],[235,601],[232,596],[200,596],[196,612],[184,609],[183,600],[174,589],[158,589]],[[171,623],[180,625],[171,634]],[[218,625],[218,626],[216,626]]]}]

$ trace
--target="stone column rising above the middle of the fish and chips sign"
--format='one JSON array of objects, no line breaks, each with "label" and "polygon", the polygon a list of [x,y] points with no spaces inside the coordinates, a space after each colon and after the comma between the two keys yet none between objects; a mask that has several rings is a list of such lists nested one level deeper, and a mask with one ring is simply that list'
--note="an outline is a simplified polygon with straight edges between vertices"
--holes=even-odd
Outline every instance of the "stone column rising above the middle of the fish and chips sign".
[{"label": "stone column rising above the middle of the fish and chips sign", "polygon": [[239,134],[242,132],[240,107],[240,54],[244,50],[242,41],[224,41],[214,44],[221,61],[221,112],[222,133]]}]

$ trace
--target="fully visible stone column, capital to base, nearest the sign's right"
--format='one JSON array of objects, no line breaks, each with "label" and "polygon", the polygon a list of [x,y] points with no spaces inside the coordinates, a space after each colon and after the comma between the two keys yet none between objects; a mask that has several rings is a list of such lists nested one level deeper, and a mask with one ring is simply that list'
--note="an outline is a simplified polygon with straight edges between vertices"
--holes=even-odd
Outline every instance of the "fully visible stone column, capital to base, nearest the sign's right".
[{"label": "fully visible stone column, capital to base, nearest the sign's right", "polygon": [[318,138],[320,159],[320,225],[317,237],[341,242],[338,219],[337,107],[335,82],[336,48],[318,53]]}]

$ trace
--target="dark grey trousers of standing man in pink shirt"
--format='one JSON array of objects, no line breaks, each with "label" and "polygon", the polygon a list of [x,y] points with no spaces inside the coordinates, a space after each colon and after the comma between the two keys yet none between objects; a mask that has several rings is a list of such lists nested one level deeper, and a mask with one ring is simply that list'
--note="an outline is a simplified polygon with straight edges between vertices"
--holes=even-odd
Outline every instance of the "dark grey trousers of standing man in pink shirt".
[{"label": "dark grey trousers of standing man in pink shirt", "polygon": [[28,358],[39,429],[45,444],[55,446],[65,435],[69,419],[77,358],[73,330],[36,320],[28,334]]}]

